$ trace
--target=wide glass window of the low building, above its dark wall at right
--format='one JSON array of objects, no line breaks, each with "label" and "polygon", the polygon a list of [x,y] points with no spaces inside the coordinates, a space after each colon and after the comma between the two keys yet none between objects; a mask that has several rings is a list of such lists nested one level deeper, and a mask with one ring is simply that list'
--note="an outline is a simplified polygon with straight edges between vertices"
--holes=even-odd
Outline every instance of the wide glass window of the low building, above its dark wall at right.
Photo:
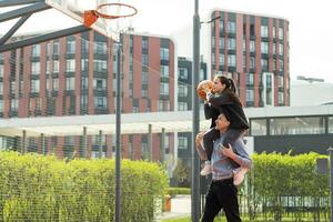
[{"label": "wide glass window of the low building, above its dark wall at right", "polygon": [[270,120],[270,134],[322,134],[325,132],[323,117],[276,118]]}]

